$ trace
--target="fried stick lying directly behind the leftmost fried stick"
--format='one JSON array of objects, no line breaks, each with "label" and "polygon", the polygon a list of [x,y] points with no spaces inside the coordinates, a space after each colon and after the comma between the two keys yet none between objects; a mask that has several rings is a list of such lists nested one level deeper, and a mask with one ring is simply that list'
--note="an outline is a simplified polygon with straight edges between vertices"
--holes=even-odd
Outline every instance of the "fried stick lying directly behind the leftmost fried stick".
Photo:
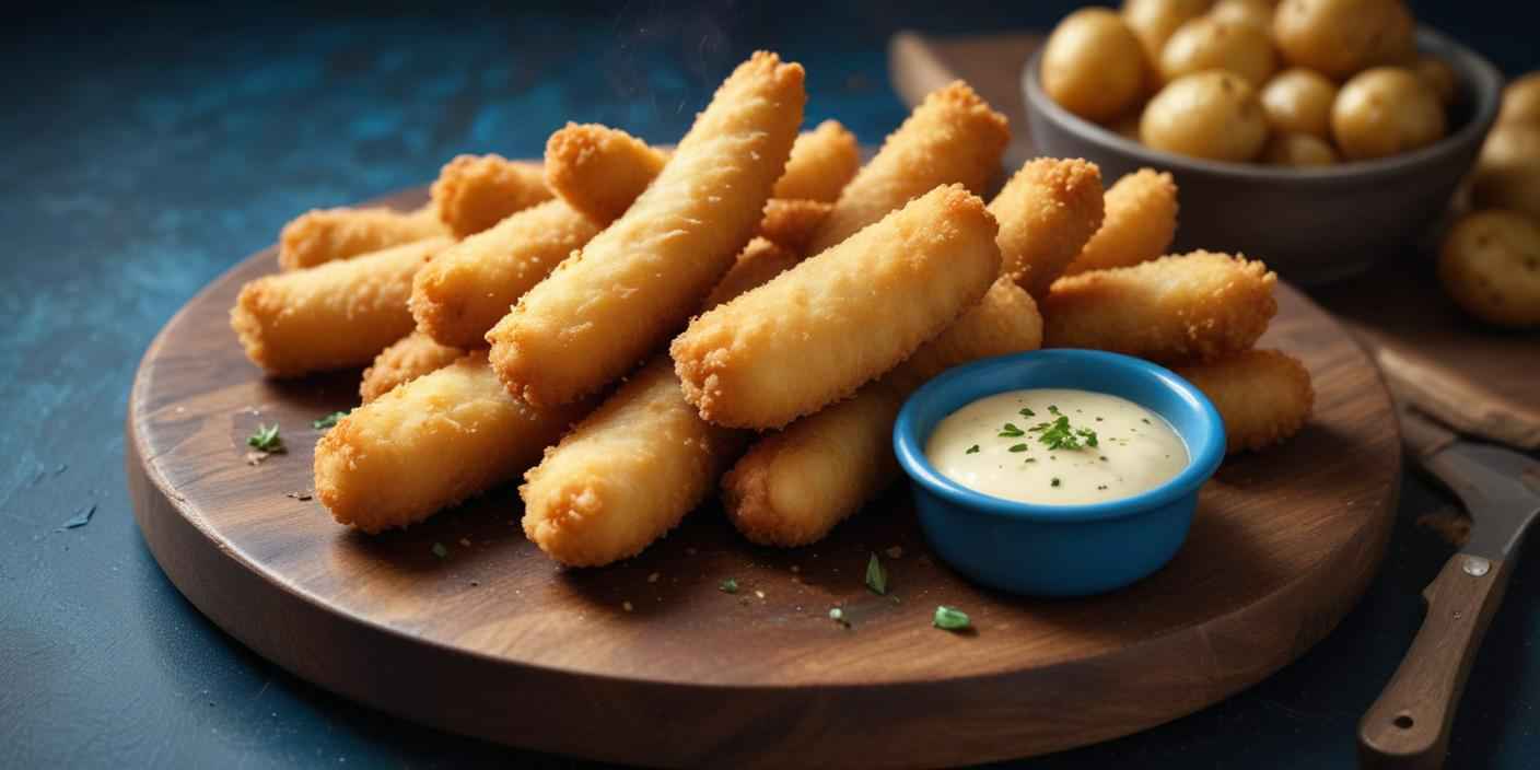
[{"label": "fried stick lying directly behind the leftmost fried stick", "polygon": [[279,234],[279,266],[313,268],[336,259],[380,251],[448,234],[431,205],[416,211],[388,208],[317,208],[294,217]]}]

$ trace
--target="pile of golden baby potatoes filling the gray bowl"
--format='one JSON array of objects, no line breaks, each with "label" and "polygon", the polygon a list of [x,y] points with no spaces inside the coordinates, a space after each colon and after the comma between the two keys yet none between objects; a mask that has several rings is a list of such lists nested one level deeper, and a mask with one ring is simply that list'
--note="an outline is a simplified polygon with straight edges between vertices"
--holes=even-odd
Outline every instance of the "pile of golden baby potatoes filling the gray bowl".
[{"label": "pile of golden baby potatoes filling the gray bowl", "polygon": [[1431,145],[1457,99],[1403,0],[1124,0],[1053,29],[1043,89],[1144,145],[1326,166]]}]

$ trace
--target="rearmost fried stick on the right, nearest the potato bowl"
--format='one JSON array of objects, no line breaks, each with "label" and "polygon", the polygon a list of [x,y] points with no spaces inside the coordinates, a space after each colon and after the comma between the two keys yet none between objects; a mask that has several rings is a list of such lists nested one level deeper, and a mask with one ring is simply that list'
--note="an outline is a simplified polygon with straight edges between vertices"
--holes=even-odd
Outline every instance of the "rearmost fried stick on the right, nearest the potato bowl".
[{"label": "rearmost fried stick on the right, nearest the potato bowl", "polygon": [[1101,229],[1069,263],[1066,276],[1160,259],[1177,237],[1177,182],[1164,171],[1124,174],[1107,188],[1106,209]]}]

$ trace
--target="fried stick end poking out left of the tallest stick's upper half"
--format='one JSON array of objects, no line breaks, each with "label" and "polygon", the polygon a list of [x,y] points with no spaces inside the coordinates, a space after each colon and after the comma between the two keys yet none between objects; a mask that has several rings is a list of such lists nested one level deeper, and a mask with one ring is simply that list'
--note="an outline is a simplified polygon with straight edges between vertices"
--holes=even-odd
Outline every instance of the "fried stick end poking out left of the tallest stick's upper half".
[{"label": "fried stick end poking out left of the tallest stick's upper half", "polygon": [[625,131],[567,123],[545,142],[545,183],[571,208],[608,225],[647,189],[668,152]]}]

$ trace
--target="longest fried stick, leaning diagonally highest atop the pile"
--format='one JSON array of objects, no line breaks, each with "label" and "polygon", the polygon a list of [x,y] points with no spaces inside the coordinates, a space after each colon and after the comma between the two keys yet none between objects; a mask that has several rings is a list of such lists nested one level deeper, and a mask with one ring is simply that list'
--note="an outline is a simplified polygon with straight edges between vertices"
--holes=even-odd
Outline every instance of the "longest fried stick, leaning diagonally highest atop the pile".
[{"label": "longest fried stick, leaning diagonally highest atop the pile", "polygon": [[805,100],[801,65],[741,65],[636,203],[487,333],[508,391],[565,403],[682,326],[753,236]]}]

